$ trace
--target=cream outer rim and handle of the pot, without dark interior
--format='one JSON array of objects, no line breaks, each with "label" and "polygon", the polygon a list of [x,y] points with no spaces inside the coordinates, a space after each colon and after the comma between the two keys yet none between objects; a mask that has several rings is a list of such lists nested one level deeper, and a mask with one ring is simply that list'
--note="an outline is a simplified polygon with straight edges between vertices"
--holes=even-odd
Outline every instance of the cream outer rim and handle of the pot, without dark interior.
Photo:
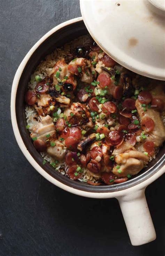
[{"label": "cream outer rim and handle of the pot, without dark interior", "polygon": [[[73,24],[82,20],[81,17],[75,18],[73,20],[64,22],[57,27],[50,30],[43,36],[26,54],[25,58],[19,65],[17,72],[14,77],[12,91],[11,91],[11,121],[14,130],[14,134],[17,140],[17,143],[22,150],[26,159],[30,162],[30,164],[48,181],[53,183],[54,185],[79,196],[92,197],[92,198],[111,198],[116,197],[119,200],[121,210],[123,212],[123,216],[125,219],[125,223],[128,229],[128,233],[133,245],[140,245],[143,243],[150,242],[156,238],[155,230],[152,224],[152,220],[150,218],[150,213],[148,210],[148,206],[146,203],[144,190],[145,188],[154,180],[156,180],[160,175],[165,172],[165,167],[162,167],[158,172],[152,175],[149,179],[141,182],[140,184],[133,186],[128,189],[109,192],[109,193],[92,193],[87,191],[78,190],[69,186],[64,185],[63,183],[54,179],[51,175],[49,175],[44,169],[34,160],[34,158],[30,155],[29,151],[26,149],[26,146],[22,140],[22,137],[19,133],[17,120],[16,120],[16,93],[18,88],[19,79],[21,74],[26,66],[27,61],[30,59],[31,55],[34,51],[53,33],[57,30],[65,27],[69,24]],[[140,192],[142,191],[142,192]],[[140,215],[140,219],[139,219]],[[134,219],[135,218],[135,219]],[[145,225],[144,225],[145,223]]]}]

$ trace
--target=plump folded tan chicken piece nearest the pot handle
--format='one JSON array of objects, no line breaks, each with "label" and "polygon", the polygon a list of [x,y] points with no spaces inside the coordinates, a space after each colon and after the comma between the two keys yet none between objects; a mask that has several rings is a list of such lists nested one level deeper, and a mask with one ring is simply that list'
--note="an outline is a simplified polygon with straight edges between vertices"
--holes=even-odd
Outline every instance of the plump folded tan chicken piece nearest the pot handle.
[{"label": "plump folded tan chicken piece nearest the pot handle", "polygon": [[117,149],[113,150],[112,154],[115,156],[115,162],[117,163],[112,172],[118,177],[139,173],[149,161],[148,156],[137,151],[128,142],[123,142]]}]

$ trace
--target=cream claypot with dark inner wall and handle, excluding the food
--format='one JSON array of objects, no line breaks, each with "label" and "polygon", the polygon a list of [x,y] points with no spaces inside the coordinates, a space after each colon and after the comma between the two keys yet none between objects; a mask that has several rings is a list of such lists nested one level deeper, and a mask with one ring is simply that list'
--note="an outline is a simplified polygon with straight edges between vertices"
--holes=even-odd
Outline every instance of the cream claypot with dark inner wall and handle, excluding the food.
[{"label": "cream claypot with dark inner wall and handle, excluding the food", "polygon": [[31,165],[54,185],[76,195],[92,198],[116,197],[133,245],[140,245],[156,239],[144,191],[146,187],[165,172],[164,153],[161,148],[158,155],[139,175],[120,184],[110,186],[92,186],[87,183],[70,180],[56,172],[49,164],[42,164],[42,157],[31,142],[26,129],[25,88],[38,64],[56,47],[61,47],[88,33],[82,18],[64,22],[50,30],[27,53],[15,74],[11,91],[11,120],[17,143]]}]

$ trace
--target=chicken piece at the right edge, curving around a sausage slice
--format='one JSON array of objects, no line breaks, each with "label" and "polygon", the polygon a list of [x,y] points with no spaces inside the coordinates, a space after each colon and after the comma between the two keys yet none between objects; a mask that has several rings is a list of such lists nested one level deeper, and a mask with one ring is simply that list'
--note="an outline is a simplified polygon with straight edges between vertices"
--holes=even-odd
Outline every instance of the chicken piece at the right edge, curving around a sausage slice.
[{"label": "chicken piece at the right edge, curving around a sausage slice", "polygon": [[154,129],[147,133],[148,136],[146,138],[146,141],[153,141],[156,147],[161,146],[165,140],[165,126],[160,117],[160,113],[152,108],[147,108],[147,111],[144,112],[141,105],[142,104],[137,99],[135,106],[137,108],[140,119],[143,120],[143,118],[149,117],[155,123]]}]

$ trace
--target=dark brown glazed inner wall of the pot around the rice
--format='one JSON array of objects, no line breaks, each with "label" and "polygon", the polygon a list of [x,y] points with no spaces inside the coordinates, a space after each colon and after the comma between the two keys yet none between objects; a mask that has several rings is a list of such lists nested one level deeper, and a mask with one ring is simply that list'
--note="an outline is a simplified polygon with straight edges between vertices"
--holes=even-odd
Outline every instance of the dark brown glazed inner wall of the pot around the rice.
[{"label": "dark brown glazed inner wall of the pot around the rice", "polygon": [[148,167],[144,168],[139,175],[135,175],[134,178],[120,184],[115,185],[101,185],[101,186],[92,186],[85,182],[73,181],[70,180],[67,176],[60,174],[58,171],[50,166],[49,163],[43,165],[43,158],[40,153],[36,151],[33,146],[33,143],[29,136],[29,131],[26,129],[26,117],[25,117],[25,103],[24,103],[24,93],[26,89],[26,85],[30,80],[31,74],[34,72],[38,64],[41,60],[45,58],[45,56],[51,53],[56,47],[61,47],[65,43],[70,42],[74,38],[77,38],[82,35],[88,34],[88,31],[85,27],[83,21],[78,21],[65,27],[60,30],[54,32],[51,36],[49,36],[32,54],[31,58],[27,61],[26,66],[23,70],[21,78],[19,80],[17,94],[16,94],[16,119],[18,124],[19,133],[21,134],[22,140],[29,151],[30,155],[36,160],[36,162],[51,175],[54,179],[60,181],[61,183],[78,189],[82,191],[94,192],[94,193],[108,193],[119,191],[123,189],[130,188],[135,186],[148,178],[154,175],[156,172],[160,170],[160,168],[164,165],[164,155],[165,155],[165,147],[162,147],[159,150],[158,155],[155,159],[153,159]]}]

